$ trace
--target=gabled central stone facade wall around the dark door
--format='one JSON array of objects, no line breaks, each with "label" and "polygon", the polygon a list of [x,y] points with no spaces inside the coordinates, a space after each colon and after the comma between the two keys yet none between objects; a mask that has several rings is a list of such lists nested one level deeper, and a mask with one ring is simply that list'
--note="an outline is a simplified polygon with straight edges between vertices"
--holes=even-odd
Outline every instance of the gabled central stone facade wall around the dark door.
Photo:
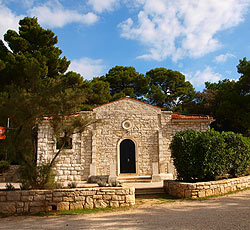
[{"label": "gabled central stone facade wall around the dark door", "polygon": [[[119,147],[124,139],[135,143],[136,175],[151,175],[152,162],[158,162],[160,108],[131,99],[112,102],[93,110],[102,120],[96,130],[97,175],[109,175],[110,163],[119,174]],[[131,127],[125,129],[123,122]]]}]

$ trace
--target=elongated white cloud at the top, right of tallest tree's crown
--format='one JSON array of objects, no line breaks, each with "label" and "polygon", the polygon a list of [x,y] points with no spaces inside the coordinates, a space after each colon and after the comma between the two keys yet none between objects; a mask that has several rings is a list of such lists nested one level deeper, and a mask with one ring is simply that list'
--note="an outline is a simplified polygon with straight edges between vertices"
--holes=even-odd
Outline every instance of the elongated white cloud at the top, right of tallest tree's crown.
[{"label": "elongated white cloud at the top, right of tallest tree's crown", "polygon": [[98,16],[94,13],[81,14],[75,10],[65,9],[57,0],[33,7],[28,12],[30,16],[38,17],[40,24],[52,28],[63,27],[73,22],[90,25],[98,21]]}]

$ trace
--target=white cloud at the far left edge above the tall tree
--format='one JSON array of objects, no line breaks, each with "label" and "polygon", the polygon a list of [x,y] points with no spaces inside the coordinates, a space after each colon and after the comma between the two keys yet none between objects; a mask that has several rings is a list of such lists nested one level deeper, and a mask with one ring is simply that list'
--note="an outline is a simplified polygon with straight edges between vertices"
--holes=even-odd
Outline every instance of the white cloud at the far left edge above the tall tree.
[{"label": "white cloud at the far left edge above the tall tree", "polygon": [[18,22],[23,15],[15,15],[9,8],[0,3],[0,39],[7,30],[18,30]]}]

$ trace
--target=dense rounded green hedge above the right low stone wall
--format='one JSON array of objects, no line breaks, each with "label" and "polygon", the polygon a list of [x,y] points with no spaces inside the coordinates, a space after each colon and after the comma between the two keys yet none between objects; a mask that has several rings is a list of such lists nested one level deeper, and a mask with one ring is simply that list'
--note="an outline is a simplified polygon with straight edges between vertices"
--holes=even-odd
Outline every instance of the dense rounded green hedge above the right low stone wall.
[{"label": "dense rounded green hedge above the right low stone wall", "polygon": [[183,181],[242,176],[250,167],[249,139],[232,132],[182,131],[174,136],[171,149],[178,178]]}]

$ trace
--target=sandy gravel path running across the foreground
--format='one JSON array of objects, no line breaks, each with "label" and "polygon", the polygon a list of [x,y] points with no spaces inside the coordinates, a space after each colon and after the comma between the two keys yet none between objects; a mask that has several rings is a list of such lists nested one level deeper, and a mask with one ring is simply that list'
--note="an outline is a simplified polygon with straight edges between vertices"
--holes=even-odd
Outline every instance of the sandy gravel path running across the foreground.
[{"label": "sandy gravel path running across the foreground", "polygon": [[144,203],[126,211],[0,219],[0,229],[250,229],[250,190],[202,201]]}]

